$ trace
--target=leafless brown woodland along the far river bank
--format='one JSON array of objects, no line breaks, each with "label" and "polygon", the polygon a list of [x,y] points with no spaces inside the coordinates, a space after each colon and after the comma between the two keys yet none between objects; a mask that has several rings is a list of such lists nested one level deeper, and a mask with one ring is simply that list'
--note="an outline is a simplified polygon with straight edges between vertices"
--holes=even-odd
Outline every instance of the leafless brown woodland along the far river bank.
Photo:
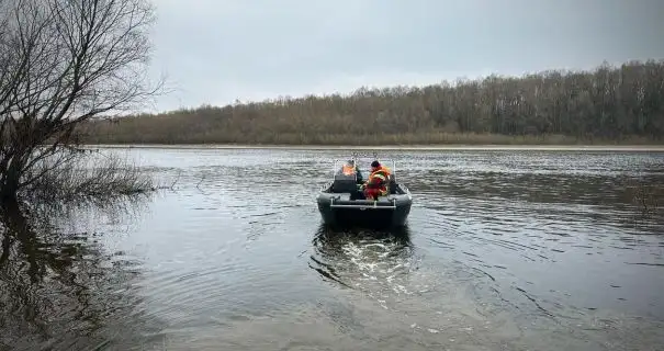
[{"label": "leafless brown woodland along the far river bank", "polygon": [[664,60],[90,122],[89,144],[660,143]]}]

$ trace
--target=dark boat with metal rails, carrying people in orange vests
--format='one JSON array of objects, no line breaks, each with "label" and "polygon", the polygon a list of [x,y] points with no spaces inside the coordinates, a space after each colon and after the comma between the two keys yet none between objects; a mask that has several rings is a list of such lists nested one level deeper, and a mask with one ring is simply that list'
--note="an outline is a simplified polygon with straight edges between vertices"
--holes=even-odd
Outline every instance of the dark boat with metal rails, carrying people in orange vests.
[{"label": "dark boat with metal rails, carrying people in orange vests", "polygon": [[[333,180],[319,191],[316,201],[323,220],[327,225],[361,225],[370,227],[402,227],[406,224],[413,196],[405,184],[396,181],[394,162],[381,161],[392,170],[387,192],[378,200],[367,200],[360,185],[362,180],[357,176],[339,171],[342,163],[336,162]],[[356,161],[356,165],[357,161]],[[358,165],[358,169],[360,169]],[[362,176],[369,171],[360,169]],[[363,180],[365,180],[364,178]]]}]

